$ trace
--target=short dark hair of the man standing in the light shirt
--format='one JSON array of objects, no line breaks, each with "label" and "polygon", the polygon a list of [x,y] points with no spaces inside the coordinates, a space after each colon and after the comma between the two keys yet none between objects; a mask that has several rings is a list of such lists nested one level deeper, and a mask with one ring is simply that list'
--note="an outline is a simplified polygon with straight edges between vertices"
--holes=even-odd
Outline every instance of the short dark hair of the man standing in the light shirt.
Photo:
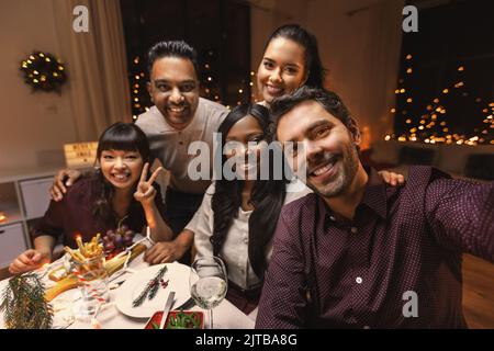
[{"label": "short dark hair of the man standing in the light shirt", "polygon": [[147,54],[147,69],[149,78],[155,61],[162,57],[180,57],[189,59],[194,66],[195,76],[199,78],[198,53],[183,41],[168,41],[156,43]]}]

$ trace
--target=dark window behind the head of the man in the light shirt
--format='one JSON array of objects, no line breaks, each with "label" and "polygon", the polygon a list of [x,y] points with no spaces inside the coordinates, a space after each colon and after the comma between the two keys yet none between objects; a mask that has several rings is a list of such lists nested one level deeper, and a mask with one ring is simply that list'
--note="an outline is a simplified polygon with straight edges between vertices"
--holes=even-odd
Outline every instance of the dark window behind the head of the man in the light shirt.
[{"label": "dark window behind the head of the man in the light shirt", "polygon": [[199,55],[201,97],[250,101],[250,9],[228,0],[121,0],[133,115],[151,105],[146,55],[158,41],[184,39]]}]

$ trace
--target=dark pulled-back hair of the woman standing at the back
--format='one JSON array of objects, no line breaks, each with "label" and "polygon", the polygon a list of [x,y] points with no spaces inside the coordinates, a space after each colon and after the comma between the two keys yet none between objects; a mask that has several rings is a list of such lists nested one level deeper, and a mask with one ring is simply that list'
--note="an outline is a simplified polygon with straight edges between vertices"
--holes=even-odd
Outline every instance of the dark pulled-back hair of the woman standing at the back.
[{"label": "dark pulled-back hair of the woman standing at the back", "polygon": [[266,42],[263,53],[268,48],[269,43],[277,37],[291,39],[305,48],[305,69],[308,71],[307,80],[304,86],[312,88],[324,88],[324,79],[326,69],[321,61],[317,38],[314,34],[307,32],[299,24],[285,24],[277,29]]}]

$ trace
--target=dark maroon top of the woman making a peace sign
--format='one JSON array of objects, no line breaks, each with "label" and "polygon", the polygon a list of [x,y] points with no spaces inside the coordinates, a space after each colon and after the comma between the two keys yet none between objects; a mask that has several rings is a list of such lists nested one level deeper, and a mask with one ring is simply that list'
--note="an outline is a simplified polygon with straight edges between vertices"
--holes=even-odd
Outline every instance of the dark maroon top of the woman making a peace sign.
[{"label": "dark maroon top of the woman making a peace sign", "polygon": [[[155,203],[158,211],[164,213],[159,185],[156,188]],[[77,248],[76,236],[80,235],[82,241],[90,241],[98,233],[101,236],[109,229],[116,229],[117,218],[100,218],[93,215],[94,202],[101,196],[102,183],[97,176],[88,176],[78,180],[68,188],[67,194],[59,202],[50,201],[48,210],[43,218],[35,225],[33,238],[49,235],[55,238],[63,238],[64,245]],[[123,222],[135,233],[143,233],[146,226],[146,217],[141,203],[133,200],[128,210],[128,217]]]}]

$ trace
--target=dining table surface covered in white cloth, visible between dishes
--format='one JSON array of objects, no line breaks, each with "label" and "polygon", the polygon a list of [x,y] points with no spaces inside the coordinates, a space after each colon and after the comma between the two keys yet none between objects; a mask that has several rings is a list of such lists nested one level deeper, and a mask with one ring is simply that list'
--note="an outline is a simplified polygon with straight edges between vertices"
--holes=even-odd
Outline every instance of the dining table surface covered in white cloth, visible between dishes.
[{"label": "dining table surface covered in white cloth, visible between dishes", "polygon": [[[128,272],[115,272],[114,275],[119,274],[117,279],[112,279],[112,276],[109,278],[110,281],[117,281],[117,282],[124,282],[125,280],[130,279],[133,274],[139,274],[139,271],[146,270],[149,268],[149,263],[145,262],[143,259],[144,254],[137,256],[135,259],[133,259],[128,263]],[[172,263],[172,264],[179,264],[179,263]],[[183,275],[180,279],[188,280],[189,276]],[[47,274],[43,278],[43,280],[47,281]],[[3,281],[0,281],[0,292],[3,292],[3,288],[7,286],[9,282],[9,279],[5,279]],[[48,282],[49,283],[49,282]],[[184,284],[184,282],[183,282]],[[112,285],[111,283],[109,284]],[[115,285],[115,284],[113,284]],[[124,284],[111,288],[109,292],[109,302],[105,305],[102,305],[101,309],[98,313],[97,320],[98,320],[98,328],[101,329],[144,329],[147,321],[149,320],[149,317],[146,318],[136,318],[131,317],[128,315],[123,314],[116,306],[115,301],[119,296],[119,290],[122,288]],[[79,290],[71,288],[66,292],[63,292],[57,297],[53,299],[53,303],[56,304],[57,301],[64,301],[64,302],[74,302],[74,305],[76,304],[75,301],[77,299],[77,295],[80,295]],[[188,296],[189,297],[189,296]],[[120,297],[122,298],[122,297]],[[128,296],[128,298],[132,298]],[[189,301],[190,303],[191,301]],[[189,304],[188,304],[189,305]],[[189,307],[188,310],[194,310],[194,312],[203,312],[204,313],[204,325],[209,326],[209,314],[207,310],[201,309],[199,306],[193,304],[193,307]],[[69,306],[70,307],[70,306]],[[71,307],[70,307],[71,308]],[[57,313],[55,312],[54,317],[57,317]],[[214,316],[214,329],[252,329],[255,325],[255,317],[256,312],[250,315],[244,314],[242,310],[239,310],[237,307],[235,307],[231,302],[228,302],[226,298],[224,298],[218,306],[216,306],[213,310]],[[3,310],[0,312],[0,328],[5,329],[4,320],[3,320]],[[71,318],[72,321],[64,326],[63,328],[68,329],[93,329],[94,324],[92,322],[90,318]]]}]

